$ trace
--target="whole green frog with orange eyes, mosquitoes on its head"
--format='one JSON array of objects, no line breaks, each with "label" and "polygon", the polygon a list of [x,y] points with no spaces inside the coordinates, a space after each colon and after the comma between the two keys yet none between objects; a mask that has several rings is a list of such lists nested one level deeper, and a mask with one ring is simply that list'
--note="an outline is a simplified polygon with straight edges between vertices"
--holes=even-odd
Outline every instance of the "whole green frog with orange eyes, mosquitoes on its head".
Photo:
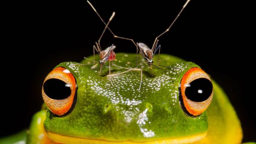
[{"label": "whole green frog with orange eyes, mosquitoes on its head", "polygon": [[133,69],[136,54],[116,53],[111,76],[108,65],[99,75],[99,64],[88,59],[53,68],[42,84],[44,103],[29,129],[0,143],[241,143],[235,109],[199,65],[161,54],[166,67],[152,68],[152,76],[141,61],[143,80],[138,90],[141,71]]}]

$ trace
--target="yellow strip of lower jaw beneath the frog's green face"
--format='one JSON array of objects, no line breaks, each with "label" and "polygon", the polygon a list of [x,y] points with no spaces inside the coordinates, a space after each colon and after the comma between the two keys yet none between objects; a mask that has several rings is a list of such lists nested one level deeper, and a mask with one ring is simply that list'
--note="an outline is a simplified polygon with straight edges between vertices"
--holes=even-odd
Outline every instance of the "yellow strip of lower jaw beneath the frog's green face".
[{"label": "yellow strip of lower jaw beneath the frog's green face", "polygon": [[185,136],[185,137],[176,137],[171,139],[163,139],[163,140],[153,140],[153,141],[145,141],[145,142],[134,142],[131,140],[128,141],[107,141],[107,140],[99,140],[99,139],[86,139],[80,137],[71,137],[71,136],[63,136],[56,133],[52,133],[47,131],[48,137],[57,142],[57,143],[64,143],[64,144],[187,144],[193,143],[195,141],[199,141],[203,139],[207,132],[200,133],[197,135],[192,136]]}]

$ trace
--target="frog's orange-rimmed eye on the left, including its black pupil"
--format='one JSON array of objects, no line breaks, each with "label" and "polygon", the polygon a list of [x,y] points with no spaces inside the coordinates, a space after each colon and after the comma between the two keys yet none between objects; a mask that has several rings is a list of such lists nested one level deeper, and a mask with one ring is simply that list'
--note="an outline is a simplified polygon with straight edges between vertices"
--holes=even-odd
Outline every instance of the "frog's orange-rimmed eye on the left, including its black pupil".
[{"label": "frog's orange-rimmed eye on the left, including its black pupil", "polygon": [[45,104],[55,115],[71,111],[76,99],[76,80],[68,69],[57,67],[45,78],[42,95]]}]

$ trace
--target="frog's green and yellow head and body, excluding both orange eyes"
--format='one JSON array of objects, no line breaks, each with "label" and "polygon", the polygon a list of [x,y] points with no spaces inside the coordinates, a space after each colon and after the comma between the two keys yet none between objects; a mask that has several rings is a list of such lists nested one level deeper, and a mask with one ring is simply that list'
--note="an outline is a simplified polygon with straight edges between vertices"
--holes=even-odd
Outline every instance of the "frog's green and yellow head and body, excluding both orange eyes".
[{"label": "frog's green and yellow head and body, excluding both orange eyes", "polygon": [[[162,65],[170,68],[154,68],[151,76],[144,64],[140,91],[140,71],[108,77],[107,65],[99,75],[99,69],[88,60],[81,64],[89,65],[57,65],[56,68],[67,69],[76,79],[75,104],[64,115],[56,115],[44,106],[33,116],[27,143],[241,143],[239,119],[219,85],[211,80],[211,104],[200,115],[189,115],[181,103],[180,83],[189,69],[200,67],[171,55],[161,54],[160,59],[164,59]],[[114,63],[134,68],[136,54],[116,53]],[[113,73],[125,70],[111,67]]]}]

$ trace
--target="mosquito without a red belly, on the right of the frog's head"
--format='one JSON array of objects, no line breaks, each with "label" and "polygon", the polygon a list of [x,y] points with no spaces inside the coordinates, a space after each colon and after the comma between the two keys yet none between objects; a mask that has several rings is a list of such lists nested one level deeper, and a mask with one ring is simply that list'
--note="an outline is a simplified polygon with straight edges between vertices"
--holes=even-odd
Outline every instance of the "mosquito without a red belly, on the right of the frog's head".
[{"label": "mosquito without a red belly, on the right of the frog's head", "polygon": [[[111,29],[108,27],[108,25],[104,22],[104,20],[100,17],[99,13],[97,13],[96,9],[92,6],[92,4],[87,0],[87,2],[91,5],[92,9],[97,13],[97,15],[100,17],[101,21],[103,21],[103,23],[106,25],[106,27],[109,29],[109,31],[112,33],[112,35],[116,38],[119,39],[125,39],[125,40],[130,40],[132,41],[132,43],[136,46],[136,51],[138,53],[138,50],[140,52],[140,55],[143,56],[144,60],[147,62],[147,64],[149,65],[150,69],[151,69],[151,75],[153,75],[152,73],[152,65],[157,67],[156,65],[153,64],[153,57],[155,55],[155,53],[157,52],[157,50],[159,51],[158,53],[158,58],[157,58],[157,65],[161,66],[161,67],[167,67],[164,65],[160,65],[159,64],[159,55],[160,55],[160,49],[161,49],[161,45],[157,45],[158,44],[158,39],[160,36],[164,35],[164,33],[168,32],[169,29],[172,27],[172,25],[175,23],[175,21],[177,20],[177,18],[180,16],[181,12],[183,11],[183,9],[187,6],[187,4],[189,3],[190,0],[187,0],[186,3],[183,5],[182,9],[180,10],[179,14],[175,17],[175,19],[173,20],[173,22],[171,23],[171,25],[163,32],[161,33],[159,36],[156,37],[152,48],[150,49],[147,45],[145,45],[144,43],[136,43],[133,41],[133,39],[128,39],[125,37],[120,37],[120,36],[116,36]],[[141,57],[142,57],[141,56]],[[138,57],[137,57],[137,67],[138,67]],[[157,67],[159,68],[159,67]],[[167,67],[167,68],[171,68],[171,67]],[[161,68],[160,68],[161,69]],[[181,69],[181,68],[180,68]],[[139,91],[142,85],[142,61],[141,61],[141,78],[140,78],[140,87],[139,87]],[[117,75],[117,74],[113,74],[113,75]],[[108,75],[108,76],[113,76],[113,75]]]}]

